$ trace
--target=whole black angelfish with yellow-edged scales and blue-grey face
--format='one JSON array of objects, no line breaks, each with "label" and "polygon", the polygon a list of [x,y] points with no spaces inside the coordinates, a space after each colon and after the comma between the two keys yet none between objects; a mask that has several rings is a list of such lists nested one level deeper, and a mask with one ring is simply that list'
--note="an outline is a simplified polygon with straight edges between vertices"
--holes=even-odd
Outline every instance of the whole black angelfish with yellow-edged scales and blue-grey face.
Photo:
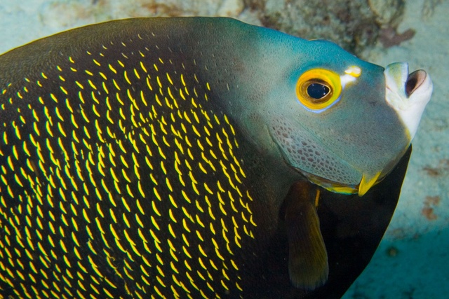
[{"label": "whole black angelfish with yellow-edged scales and blue-grey face", "polygon": [[406,153],[430,94],[406,63],[384,70],[229,18],[118,20],[11,50],[0,298],[343,292],[361,269],[339,286],[350,252],[335,254],[330,218],[391,197],[372,256],[408,158],[396,191],[368,190]]}]

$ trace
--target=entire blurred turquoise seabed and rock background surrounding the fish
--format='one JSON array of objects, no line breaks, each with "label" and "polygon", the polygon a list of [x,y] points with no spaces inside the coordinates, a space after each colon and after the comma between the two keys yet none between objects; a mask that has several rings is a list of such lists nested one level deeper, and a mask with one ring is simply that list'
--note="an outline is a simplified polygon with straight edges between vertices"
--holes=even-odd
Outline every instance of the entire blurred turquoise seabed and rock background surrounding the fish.
[{"label": "entire blurred turquoise seabed and rock background surrounding the fish", "polygon": [[363,60],[408,62],[434,81],[394,217],[349,298],[449,297],[449,1],[0,0],[0,53],[81,25],[130,17],[220,15],[306,39],[328,39]]}]

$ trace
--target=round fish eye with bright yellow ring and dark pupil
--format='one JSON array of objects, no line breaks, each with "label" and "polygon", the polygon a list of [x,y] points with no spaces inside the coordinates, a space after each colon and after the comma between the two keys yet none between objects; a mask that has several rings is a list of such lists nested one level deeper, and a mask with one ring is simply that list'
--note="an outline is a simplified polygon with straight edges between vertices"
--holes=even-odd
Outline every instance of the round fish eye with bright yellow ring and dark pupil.
[{"label": "round fish eye with bright yellow ring and dark pupil", "polygon": [[311,111],[323,111],[337,102],[342,93],[340,76],[327,69],[311,69],[296,84],[297,99]]}]

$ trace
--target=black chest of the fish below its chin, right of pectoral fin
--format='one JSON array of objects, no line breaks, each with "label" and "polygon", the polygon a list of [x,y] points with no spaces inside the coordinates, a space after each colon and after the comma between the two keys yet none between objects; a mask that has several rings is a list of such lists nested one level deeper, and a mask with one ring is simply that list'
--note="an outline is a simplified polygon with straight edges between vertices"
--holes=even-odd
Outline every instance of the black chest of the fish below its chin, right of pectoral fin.
[{"label": "black chest of the fish below its chin, right of pectoral fin", "polygon": [[390,174],[366,195],[322,190],[317,208],[326,241],[329,279],[302,299],[340,299],[370,262],[387,229],[401,193],[411,146]]}]

